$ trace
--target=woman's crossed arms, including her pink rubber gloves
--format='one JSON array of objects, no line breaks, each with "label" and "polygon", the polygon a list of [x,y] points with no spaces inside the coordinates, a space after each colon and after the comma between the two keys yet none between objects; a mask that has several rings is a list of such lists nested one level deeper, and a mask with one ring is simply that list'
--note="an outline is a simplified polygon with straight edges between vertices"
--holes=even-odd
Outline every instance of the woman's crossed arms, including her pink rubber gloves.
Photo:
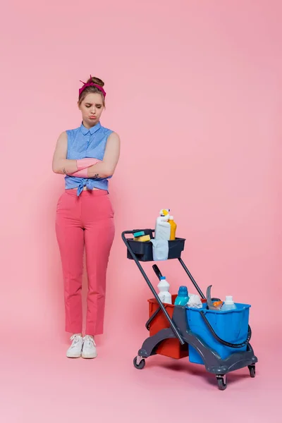
[{"label": "woman's crossed arms, including her pink rubber gloves", "polygon": [[109,178],[114,174],[120,154],[120,139],[118,134],[111,133],[106,142],[102,161],[98,159],[66,159],[68,139],[66,132],[61,133],[56,143],[52,168],[54,173],[77,176],[79,178]]}]

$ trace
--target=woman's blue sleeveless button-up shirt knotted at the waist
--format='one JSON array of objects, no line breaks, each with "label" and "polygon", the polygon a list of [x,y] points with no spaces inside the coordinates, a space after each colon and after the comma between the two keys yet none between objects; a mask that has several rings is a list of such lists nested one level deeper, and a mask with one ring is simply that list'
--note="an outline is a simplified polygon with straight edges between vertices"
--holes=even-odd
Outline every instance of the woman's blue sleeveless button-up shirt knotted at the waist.
[{"label": "woman's blue sleeveless button-up shirt knotted at the waist", "polygon": [[[92,158],[103,160],[106,149],[106,140],[109,135],[114,132],[104,128],[101,123],[97,123],[92,128],[87,129],[81,123],[79,128],[66,130],[68,135],[68,152],[67,159],[85,159]],[[88,190],[99,188],[100,190],[108,190],[108,178],[92,179],[92,178],[76,178],[75,176],[65,176],[66,190],[78,188],[78,196],[84,187]]]}]

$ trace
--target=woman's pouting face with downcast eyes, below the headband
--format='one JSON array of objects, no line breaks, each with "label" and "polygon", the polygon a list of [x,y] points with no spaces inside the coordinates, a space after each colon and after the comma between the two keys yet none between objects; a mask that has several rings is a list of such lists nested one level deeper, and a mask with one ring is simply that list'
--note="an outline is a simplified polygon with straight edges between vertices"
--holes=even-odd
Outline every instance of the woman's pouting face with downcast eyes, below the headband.
[{"label": "woman's pouting face with downcast eyes, below the headband", "polygon": [[89,127],[96,125],[104,110],[102,95],[98,92],[90,92],[78,108],[82,113],[82,120],[85,125]]}]

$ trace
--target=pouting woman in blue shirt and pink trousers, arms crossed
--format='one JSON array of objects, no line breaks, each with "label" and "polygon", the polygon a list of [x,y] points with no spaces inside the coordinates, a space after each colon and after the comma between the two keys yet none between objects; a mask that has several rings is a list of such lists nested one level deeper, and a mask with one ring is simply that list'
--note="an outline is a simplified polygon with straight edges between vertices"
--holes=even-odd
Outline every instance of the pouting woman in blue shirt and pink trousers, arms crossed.
[{"label": "pouting woman in blue shirt and pink trousers, arms crossed", "polygon": [[[82,82],[82,81],[81,81]],[[67,357],[97,357],[94,336],[103,333],[106,267],[114,240],[114,211],[108,179],[114,174],[120,140],[104,128],[104,82],[82,82],[78,108],[80,127],[61,133],[53,171],[66,175],[66,190],[56,209],[56,237],[63,267],[66,331],[71,332]],[[82,263],[85,247],[88,279],[87,321],[82,338]]]}]

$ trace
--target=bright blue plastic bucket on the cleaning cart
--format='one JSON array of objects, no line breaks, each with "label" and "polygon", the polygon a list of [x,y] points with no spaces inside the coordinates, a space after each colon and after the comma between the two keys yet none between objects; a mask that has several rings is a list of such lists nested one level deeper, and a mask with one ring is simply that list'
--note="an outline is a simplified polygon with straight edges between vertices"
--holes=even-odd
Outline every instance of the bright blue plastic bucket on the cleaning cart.
[{"label": "bright blue plastic bucket on the cleaning cart", "polygon": [[[192,333],[202,338],[211,350],[215,350],[221,359],[225,359],[233,353],[247,350],[247,344],[241,348],[227,347],[216,341],[214,335],[209,330],[201,311],[204,312],[205,317],[212,326],[212,329],[219,338],[228,343],[240,344],[246,341],[249,325],[250,305],[235,303],[236,309],[227,311],[217,311],[207,309],[207,304],[204,303],[202,309],[195,309],[186,307],[186,314],[188,319],[188,328]],[[189,345],[189,361],[197,364],[204,364],[202,357],[197,353],[197,350]]]}]

